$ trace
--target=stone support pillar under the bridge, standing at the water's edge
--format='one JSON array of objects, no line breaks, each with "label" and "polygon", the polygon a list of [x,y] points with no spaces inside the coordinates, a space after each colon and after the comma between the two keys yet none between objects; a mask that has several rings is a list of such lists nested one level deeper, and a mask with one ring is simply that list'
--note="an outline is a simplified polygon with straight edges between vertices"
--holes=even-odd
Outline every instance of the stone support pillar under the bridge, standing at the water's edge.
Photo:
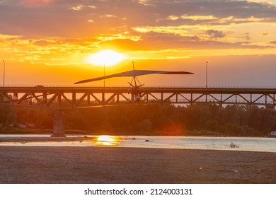
[{"label": "stone support pillar under the bridge, standing at the water's edge", "polygon": [[54,112],[54,127],[52,136],[66,136],[64,130],[64,112],[62,112],[62,110]]}]

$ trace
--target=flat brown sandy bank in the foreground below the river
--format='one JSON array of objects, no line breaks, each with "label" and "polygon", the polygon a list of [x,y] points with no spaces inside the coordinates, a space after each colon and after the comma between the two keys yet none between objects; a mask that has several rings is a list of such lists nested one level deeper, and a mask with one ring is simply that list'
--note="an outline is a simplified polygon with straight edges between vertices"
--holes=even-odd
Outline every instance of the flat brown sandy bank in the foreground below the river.
[{"label": "flat brown sandy bank in the foreground below the river", "polygon": [[0,183],[276,183],[276,153],[0,146]]}]

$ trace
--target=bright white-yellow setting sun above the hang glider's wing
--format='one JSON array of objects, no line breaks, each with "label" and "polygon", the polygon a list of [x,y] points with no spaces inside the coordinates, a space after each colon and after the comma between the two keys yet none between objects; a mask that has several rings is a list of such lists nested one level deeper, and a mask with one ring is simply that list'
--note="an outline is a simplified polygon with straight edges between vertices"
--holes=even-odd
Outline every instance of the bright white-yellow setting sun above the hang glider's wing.
[{"label": "bright white-yellow setting sun above the hang glider's wing", "polygon": [[96,54],[91,54],[87,58],[88,64],[93,66],[114,66],[125,59],[123,54],[113,50],[102,50]]}]

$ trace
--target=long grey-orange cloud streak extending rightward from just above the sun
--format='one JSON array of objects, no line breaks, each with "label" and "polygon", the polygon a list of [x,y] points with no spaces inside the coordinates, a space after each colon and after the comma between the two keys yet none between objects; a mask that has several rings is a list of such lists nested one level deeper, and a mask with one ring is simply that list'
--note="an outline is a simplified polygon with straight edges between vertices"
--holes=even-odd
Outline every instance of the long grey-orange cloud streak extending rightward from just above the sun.
[{"label": "long grey-orange cloud streak extending rightward from just above the sun", "polygon": [[[216,33],[216,31],[214,31]],[[217,33],[218,38],[221,37],[222,33]],[[208,35],[209,37],[209,35]],[[226,42],[224,40],[219,40],[213,38],[212,40],[205,39],[205,37],[200,38],[197,35],[192,36],[181,36],[168,33],[144,33],[142,37],[137,40],[129,39],[115,39],[99,42],[99,45],[105,47],[111,46],[121,46],[121,49],[127,51],[135,50],[149,50],[152,51],[163,51],[163,50],[215,50],[215,49],[264,49],[271,48],[269,45],[257,45],[253,42]]]}]

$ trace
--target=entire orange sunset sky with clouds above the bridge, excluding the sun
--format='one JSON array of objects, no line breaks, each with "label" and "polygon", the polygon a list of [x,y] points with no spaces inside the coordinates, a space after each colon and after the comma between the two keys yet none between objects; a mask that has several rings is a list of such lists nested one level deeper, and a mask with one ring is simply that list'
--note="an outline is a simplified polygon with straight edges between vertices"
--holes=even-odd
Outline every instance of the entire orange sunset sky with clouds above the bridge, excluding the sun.
[{"label": "entire orange sunset sky with clouds above the bridge, excluding the sun", "polygon": [[100,76],[87,57],[110,49],[127,58],[106,74],[132,69],[132,60],[137,69],[195,72],[141,77],[149,86],[205,86],[207,61],[210,86],[275,86],[275,22],[276,1],[0,0],[0,59],[11,85]]}]

